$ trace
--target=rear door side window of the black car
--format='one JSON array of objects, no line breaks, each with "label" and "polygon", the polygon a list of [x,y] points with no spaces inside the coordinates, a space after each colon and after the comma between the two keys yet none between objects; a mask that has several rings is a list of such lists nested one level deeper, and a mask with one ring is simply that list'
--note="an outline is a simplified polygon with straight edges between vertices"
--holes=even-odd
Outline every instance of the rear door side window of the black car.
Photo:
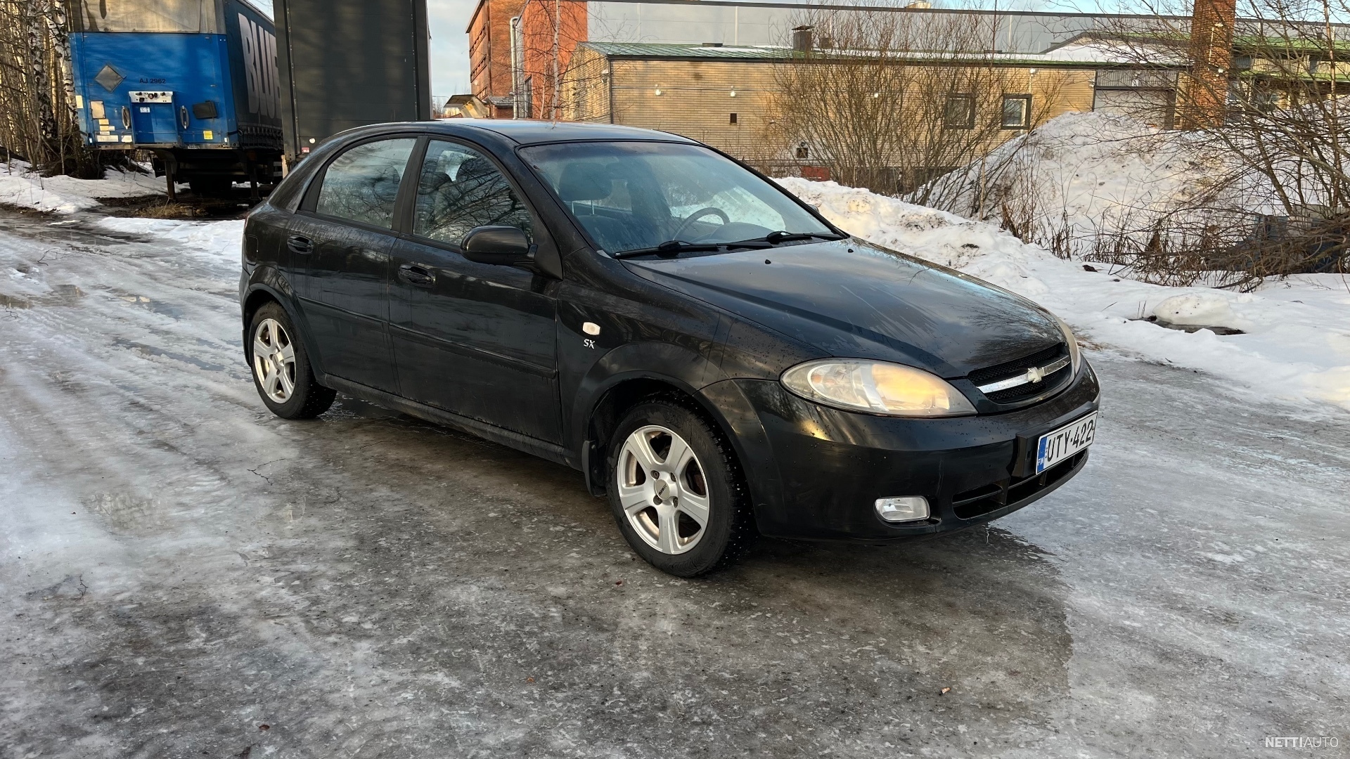
[{"label": "rear door side window of the black car", "polygon": [[416,138],[367,142],[328,165],[315,211],[386,230],[394,226],[394,200]]}]

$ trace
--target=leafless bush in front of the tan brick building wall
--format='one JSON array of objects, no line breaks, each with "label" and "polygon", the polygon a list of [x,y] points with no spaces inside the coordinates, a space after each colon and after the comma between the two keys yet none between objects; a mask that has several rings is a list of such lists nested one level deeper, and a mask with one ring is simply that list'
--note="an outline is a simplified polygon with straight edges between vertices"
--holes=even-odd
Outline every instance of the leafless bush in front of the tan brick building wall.
[{"label": "leafless bush in front of the tan brick building wall", "polygon": [[1062,74],[995,53],[999,34],[987,15],[803,9],[794,54],[776,66],[768,140],[846,185],[932,186],[1041,123],[1057,100]]}]

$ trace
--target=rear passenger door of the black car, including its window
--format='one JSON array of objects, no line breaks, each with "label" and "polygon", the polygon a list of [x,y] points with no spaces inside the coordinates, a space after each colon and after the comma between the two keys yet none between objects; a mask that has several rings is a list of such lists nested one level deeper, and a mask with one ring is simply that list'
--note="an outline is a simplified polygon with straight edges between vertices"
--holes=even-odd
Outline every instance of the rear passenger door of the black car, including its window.
[{"label": "rear passenger door of the black car, including its window", "polygon": [[389,343],[389,254],[414,136],[382,138],[338,154],[290,221],[301,309],[324,371],[397,393]]}]

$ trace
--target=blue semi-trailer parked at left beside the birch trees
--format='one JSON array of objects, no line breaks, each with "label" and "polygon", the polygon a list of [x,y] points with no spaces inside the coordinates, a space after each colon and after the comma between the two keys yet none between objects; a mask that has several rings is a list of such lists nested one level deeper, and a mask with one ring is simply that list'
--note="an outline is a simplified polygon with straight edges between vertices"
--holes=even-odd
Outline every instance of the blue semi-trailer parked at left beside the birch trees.
[{"label": "blue semi-trailer parked at left beside the birch trees", "polygon": [[281,174],[271,19],[244,0],[68,0],[85,145],[148,150],[194,193]]}]

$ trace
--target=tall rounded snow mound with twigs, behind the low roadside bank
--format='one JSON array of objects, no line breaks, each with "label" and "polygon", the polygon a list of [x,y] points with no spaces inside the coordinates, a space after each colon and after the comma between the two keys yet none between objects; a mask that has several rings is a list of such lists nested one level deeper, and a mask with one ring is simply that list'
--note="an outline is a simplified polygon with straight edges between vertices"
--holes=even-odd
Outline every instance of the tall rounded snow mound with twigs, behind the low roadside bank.
[{"label": "tall rounded snow mound with twigs, behind the low roadside bank", "polygon": [[1280,213],[1264,180],[1246,177],[1203,135],[1160,131],[1127,116],[1065,113],[1014,138],[981,161],[911,196],[929,204],[1025,228],[1048,244],[1065,228],[1075,257],[1102,234],[1148,235],[1156,224],[1199,230],[1214,213],[1251,224]]}]

